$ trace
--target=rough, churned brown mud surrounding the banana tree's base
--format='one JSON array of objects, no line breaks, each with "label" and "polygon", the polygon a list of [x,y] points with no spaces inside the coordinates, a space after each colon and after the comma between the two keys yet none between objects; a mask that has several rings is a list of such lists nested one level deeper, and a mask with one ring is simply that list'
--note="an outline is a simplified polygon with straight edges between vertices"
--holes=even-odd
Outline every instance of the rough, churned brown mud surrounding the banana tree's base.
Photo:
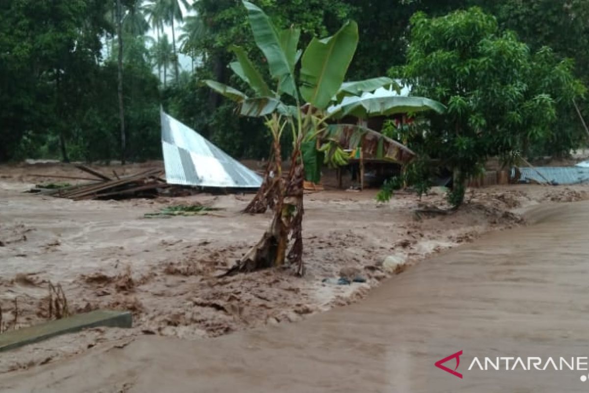
[{"label": "rough, churned brown mud surrounding the banana tree's base", "polygon": [[[116,167],[116,171],[134,173],[148,165]],[[99,169],[112,171],[112,167]],[[471,242],[491,230],[525,224],[521,214],[535,204],[587,199],[589,190],[584,186],[469,190],[467,203],[448,215],[416,214],[422,204],[446,207],[444,195],[435,190],[421,201],[414,194],[398,193],[386,204],[376,203],[375,191],[370,190],[310,193],[305,197],[303,224],[305,277],[283,269],[219,278],[269,224],[270,213],[240,213],[251,195],[73,202],[22,191],[41,181],[75,180],[29,174],[87,176],[55,164],[0,166],[4,329],[48,318],[49,282],[62,286],[71,313],[130,310],[134,328],[91,329],[11,351],[0,357],[0,372],[127,336],[196,339],[297,321],[362,298],[382,279],[411,269],[432,253]],[[194,203],[220,210],[167,219],[144,216],[166,206]],[[337,285],[342,269],[366,282]]]}]

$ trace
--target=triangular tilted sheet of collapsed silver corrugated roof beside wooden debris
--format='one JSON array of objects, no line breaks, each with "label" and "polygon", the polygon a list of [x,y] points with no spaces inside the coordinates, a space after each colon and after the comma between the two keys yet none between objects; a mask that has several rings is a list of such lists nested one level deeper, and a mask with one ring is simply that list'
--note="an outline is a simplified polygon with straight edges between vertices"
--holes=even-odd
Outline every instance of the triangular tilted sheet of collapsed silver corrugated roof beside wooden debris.
[{"label": "triangular tilted sheet of collapsed silver corrugated roof beside wooden debris", "polygon": [[166,181],[200,187],[258,188],[262,178],[196,131],[161,111]]}]

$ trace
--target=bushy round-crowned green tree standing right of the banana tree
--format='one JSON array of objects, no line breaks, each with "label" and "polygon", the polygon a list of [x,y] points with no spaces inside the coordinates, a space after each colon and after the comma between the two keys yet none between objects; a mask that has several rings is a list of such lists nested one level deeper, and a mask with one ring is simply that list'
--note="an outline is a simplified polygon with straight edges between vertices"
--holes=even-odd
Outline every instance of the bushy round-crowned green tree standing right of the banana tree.
[{"label": "bushy round-crowned green tree standing right of the banana tree", "polygon": [[453,171],[452,203],[462,202],[462,184],[488,157],[513,162],[542,147],[575,147],[569,138],[583,135],[580,123],[570,135],[560,124],[572,120],[573,100],[584,93],[570,61],[548,47],[530,51],[479,8],[432,19],[418,13],[411,24],[404,76],[415,93],[448,107],[412,143]]}]

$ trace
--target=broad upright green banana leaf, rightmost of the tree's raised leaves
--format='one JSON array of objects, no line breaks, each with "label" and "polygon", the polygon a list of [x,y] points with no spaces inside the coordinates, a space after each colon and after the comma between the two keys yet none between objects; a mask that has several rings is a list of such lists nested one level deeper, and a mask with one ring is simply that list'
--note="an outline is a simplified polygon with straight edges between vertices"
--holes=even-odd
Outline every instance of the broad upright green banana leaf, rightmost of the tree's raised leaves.
[{"label": "broad upright green banana leaf, rightmost of the tree's raised leaves", "polygon": [[303,53],[300,93],[307,103],[325,109],[343,83],[358,45],[358,25],[348,22],[329,38],[313,38]]}]

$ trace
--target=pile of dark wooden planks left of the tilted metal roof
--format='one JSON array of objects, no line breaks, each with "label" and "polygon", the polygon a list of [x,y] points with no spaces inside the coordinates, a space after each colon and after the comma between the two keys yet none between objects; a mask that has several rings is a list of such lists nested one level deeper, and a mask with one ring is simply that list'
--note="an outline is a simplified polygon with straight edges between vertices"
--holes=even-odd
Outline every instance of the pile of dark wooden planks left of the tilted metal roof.
[{"label": "pile of dark wooden planks left of the tilted metal roof", "polygon": [[[58,187],[51,190],[33,190],[49,194],[55,197],[69,198],[73,200],[88,199],[126,199],[126,198],[153,198],[158,196],[161,190],[171,186],[166,180],[161,179],[162,170],[150,169],[131,176],[118,176],[113,171],[115,178],[106,176],[84,165],[76,167],[95,177],[92,183],[77,184],[69,187]],[[65,177],[65,176],[49,176]],[[75,177],[67,177],[76,179]],[[78,178],[81,179],[81,178]],[[90,180],[84,178],[85,180]]]}]

